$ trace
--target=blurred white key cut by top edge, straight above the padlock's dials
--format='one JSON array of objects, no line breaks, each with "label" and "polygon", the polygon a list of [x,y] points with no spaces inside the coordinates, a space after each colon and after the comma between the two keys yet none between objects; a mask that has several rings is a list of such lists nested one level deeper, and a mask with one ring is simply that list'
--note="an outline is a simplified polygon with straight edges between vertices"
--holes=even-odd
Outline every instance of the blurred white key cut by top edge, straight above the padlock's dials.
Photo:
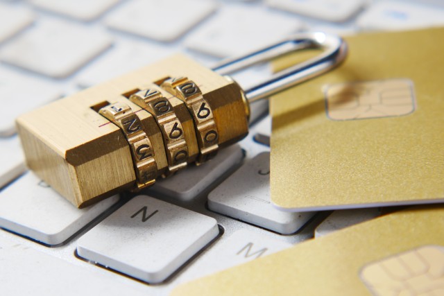
[{"label": "blurred white key cut by top edge, straight above the padlock's dials", "polygon": [[133,0],[112,12],[110,28],[154,40],[176,40],[216,9],[214,1]]}]

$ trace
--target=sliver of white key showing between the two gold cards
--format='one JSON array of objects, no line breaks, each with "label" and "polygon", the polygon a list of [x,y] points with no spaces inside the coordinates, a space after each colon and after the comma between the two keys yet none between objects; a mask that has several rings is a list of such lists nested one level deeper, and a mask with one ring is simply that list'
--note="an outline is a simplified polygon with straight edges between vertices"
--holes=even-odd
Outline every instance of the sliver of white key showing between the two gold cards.
[{"label": "sliver of white key showing between the two gold cards", "polygon": [[316,227],[314,236],[325,236],[339,229],[376,218],[379,215],[381,215],[381,211],[378,208],[337,210]]}]

